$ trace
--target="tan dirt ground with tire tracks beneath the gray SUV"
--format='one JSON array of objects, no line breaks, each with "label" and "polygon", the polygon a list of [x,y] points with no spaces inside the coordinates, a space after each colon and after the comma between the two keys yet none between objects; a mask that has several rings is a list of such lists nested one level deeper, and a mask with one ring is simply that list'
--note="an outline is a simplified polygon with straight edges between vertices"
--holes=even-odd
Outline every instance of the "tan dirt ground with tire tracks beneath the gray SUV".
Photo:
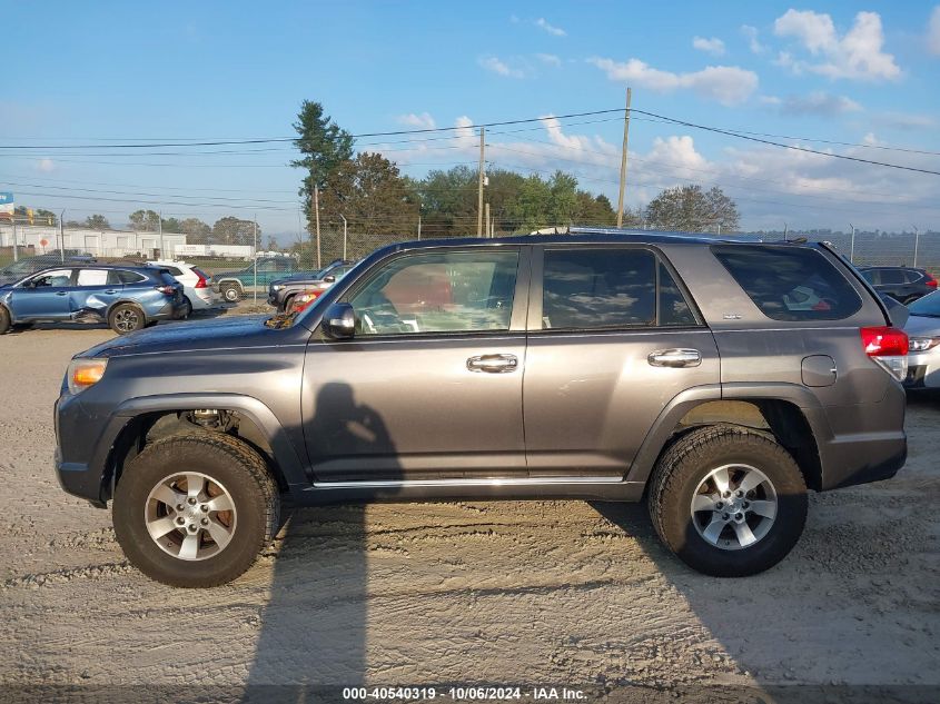
[{"label": "tan dirt ground with tire tracks beneath the gray SUV", "polygon": [[897,478],[814,495],[774,569],[722,581],[642,507],[342,506],[293,515],[235,583],[128,565],[52,472],[52,403],[105,329],[0,337],[0,685],[929,685],[940,692],[940,401]]}]

